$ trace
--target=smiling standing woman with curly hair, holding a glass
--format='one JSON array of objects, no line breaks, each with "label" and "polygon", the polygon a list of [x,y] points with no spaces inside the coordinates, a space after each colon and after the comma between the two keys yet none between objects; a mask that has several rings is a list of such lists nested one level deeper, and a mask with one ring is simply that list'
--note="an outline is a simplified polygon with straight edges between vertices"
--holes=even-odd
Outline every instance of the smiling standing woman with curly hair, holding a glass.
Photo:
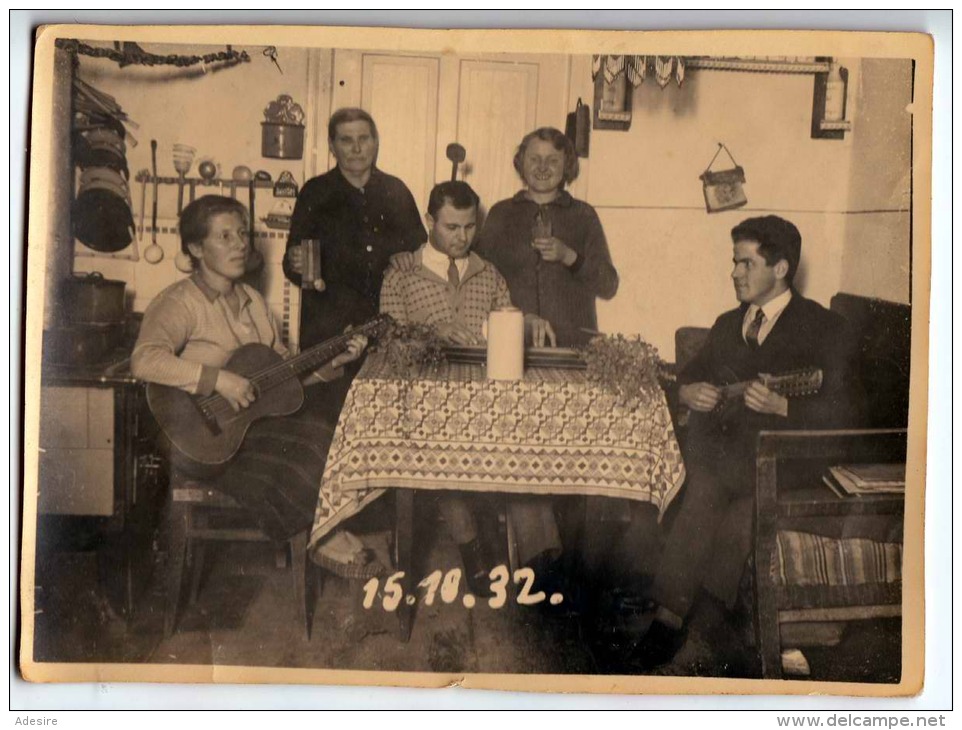
[{"label": "smiling standing woman with curly hair, holding a glass", "polygon": [[[514,156],[525,188],[488,213],[475,250],[508,282],[525,314],[547,320],[557,345],[586,343],[598,329],[595,300],[618,291],[618,272],[598,214],[564,188],[578,177],[574,145],[553,127],[525,135]],[[535,328],[536,345],[551,333]]]}]

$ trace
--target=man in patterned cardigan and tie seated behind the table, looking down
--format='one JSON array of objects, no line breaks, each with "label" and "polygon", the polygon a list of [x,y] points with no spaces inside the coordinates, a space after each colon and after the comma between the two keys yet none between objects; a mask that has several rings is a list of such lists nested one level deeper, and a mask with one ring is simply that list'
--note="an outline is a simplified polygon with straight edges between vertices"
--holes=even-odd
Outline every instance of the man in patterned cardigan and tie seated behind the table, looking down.
[{"label": "man in patterned cardigan and tie seated behind the table, looking down", "polygon": [[[497,269],[471,252],[478,207],[477,193],[467,183],[435,185],[424,217],[428,242],[414,253],[412,261],[388,269],[381,287],[382,312],[401,323],[433,325],[441,337],[455,344],[484,342],[482,325],[488,313],[510,306],[511,296]],[[550,328],[533,315],[525,319],[529,330]],[[438,506],[458,544],[471,590],[475,595],[489,595],[487,575],[493,565],[485,556],[466,499],[457,493],[445,493]],[[522,565],[550,564],[560,555],[561,540],[550,501],[512,497],[508,500],[508,519]]]}]

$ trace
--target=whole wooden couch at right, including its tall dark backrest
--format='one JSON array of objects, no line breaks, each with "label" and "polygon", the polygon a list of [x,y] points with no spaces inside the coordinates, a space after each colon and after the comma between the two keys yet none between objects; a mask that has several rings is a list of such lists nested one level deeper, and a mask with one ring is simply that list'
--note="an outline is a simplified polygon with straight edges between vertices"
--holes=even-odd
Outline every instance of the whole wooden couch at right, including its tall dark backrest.
[{"label": "whole wooden couch at right, including its tall dark backrest", "polygon": [[[766,677],[782,675],[780,627],[901,615],[904,496],[842,498],[822,476],[827,467],[843,463],[905,462],[911,307],[852,294],[836,294],[831,306],[857,338],[867,428],[759,435],[755,617]],[[846,520],[860,526],[838,539]],[[814,551],[818,560],[831,550],[844,560],[870,562],[875,570],[859,582],[783,575],[778,561],[785,565],[792,550]]]}]

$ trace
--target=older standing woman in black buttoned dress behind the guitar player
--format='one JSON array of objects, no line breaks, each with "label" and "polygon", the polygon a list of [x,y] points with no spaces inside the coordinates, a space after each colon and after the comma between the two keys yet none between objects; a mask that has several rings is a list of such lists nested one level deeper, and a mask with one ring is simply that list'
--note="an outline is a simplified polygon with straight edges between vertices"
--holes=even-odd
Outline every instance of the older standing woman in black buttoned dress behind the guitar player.
[{"label": "older standing woman in black buttoned dress behind the guitar player", "polygon": [[[301,241],[320,241],[324,287],[302,289],[302,347],[373,318],[391,256],[416,251],[427,240],[410,190],[375,166],[378,134],[370,114],[355,108],[334,112],[328,146],[337,166],[301,189],[284,256],[285,275],[301,286]],[[323,394],[335,418],[356,367]]]}]

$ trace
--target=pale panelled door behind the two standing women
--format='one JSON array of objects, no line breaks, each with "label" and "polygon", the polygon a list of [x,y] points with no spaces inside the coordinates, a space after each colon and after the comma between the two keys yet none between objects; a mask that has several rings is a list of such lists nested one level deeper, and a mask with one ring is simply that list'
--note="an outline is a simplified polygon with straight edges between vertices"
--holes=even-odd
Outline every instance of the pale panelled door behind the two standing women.
[{"label": "pale panelled door behind the two standing women", "polygon": [[[361,106],[378,124],[378,166],[401,178],[423,211],[451,177],[446,149],[464,146],[460,179],[482,207],[521,187],[512,160],[538,126],[564,128],[569,62],[560,55],[334,52],[331,111]],[[329,161],[329,165],[333,160]]]}]

